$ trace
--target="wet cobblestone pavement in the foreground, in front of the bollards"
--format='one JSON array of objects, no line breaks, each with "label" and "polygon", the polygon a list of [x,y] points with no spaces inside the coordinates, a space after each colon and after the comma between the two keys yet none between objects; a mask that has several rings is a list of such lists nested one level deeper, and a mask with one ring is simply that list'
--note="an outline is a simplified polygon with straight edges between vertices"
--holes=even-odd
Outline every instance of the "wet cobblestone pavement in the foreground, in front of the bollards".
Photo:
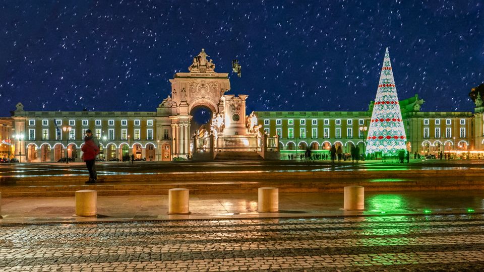
[{"label": "wet cobblestone pavement in the foreground, in front of the bollards", "polygon": [[1,271],[478,271],[484,216],[4,225]]}]

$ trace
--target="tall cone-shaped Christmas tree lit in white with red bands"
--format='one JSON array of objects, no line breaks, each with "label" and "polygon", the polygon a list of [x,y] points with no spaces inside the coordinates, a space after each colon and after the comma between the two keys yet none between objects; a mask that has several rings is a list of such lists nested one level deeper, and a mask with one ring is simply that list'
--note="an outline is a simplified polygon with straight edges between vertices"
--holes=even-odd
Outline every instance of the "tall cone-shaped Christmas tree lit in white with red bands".
[{"label": "tall cone-shaped Christmas tree lit in white with red bands", "polygon": [[381,152],[382,156],[398,156],[398,152],[406,148],[406,139],[387,48],[368,130],[366,154]]}]

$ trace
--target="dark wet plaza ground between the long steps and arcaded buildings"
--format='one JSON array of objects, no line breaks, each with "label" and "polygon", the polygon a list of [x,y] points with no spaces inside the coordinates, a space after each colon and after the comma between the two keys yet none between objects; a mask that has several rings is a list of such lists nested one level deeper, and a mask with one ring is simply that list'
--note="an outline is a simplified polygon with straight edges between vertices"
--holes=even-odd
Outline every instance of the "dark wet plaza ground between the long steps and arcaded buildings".
[{"label": "dark wet plaza ground between the long steps and arcaded buildings", "polygon": [[[399,164],[394,161],[345,161],[332,165],[328,161],[301,162],[98,162],[100,175],[162,174],[176,172],[243,172],[243,171],[386,171],[386,170],[435,170],[435,169],[484,169],[483,161],[441,161],[410,160]],[[46,177],[46,176],[84,176],[85,164],[75,163],[13,163],[0,164],[0,177]]]}]

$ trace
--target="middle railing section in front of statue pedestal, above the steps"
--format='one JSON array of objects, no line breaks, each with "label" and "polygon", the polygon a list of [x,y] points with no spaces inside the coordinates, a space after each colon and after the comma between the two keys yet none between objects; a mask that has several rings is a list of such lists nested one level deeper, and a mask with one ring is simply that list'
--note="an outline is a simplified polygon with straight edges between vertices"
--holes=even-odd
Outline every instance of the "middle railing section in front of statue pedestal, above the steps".
[{"label": "middle railing section in front of statue pedestal, above the steps", "polygon": [[262,138],[223,137],[217,138],[215,152],[260,152]]}]

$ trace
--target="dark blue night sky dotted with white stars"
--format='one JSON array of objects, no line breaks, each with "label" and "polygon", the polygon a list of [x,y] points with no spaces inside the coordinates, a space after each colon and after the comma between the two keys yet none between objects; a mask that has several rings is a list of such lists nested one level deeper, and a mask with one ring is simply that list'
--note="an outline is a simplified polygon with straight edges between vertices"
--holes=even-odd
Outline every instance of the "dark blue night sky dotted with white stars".
[{"label": "dark blue night sky dotted with white stars", "polygon": [[155,111],[201,48],[249,111],[367,110],[385,47],[399,99],[470,111],[484,82],[484,1],[425,2],[3,1],[0,116],[17,102]]}]

